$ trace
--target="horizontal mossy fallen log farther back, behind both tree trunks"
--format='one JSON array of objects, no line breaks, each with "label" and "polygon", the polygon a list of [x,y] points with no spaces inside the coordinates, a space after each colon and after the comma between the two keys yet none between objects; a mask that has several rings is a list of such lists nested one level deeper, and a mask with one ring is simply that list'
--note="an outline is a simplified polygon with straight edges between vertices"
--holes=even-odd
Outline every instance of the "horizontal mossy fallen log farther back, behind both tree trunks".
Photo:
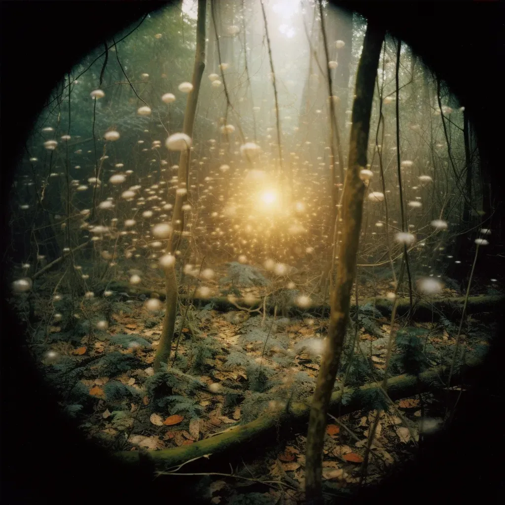
[{"label": "horizontal mossy fallen log farther back, behind both tree trunks", "polygon": [[[146,289],[140,287],[132,287],[127,283],[114,282],[108,286],[108,289],[112,290],[123,290],[131,296],[152,296],[157,295],[161,300],[165,298],[165,293],[160,290],[159,292],[153,289]],[[179,295],[179,299],[182,304],[186,304],[188,297],[184,294]],[[189,298],[191,301],[191,298]],[[412,318],[417,321],[438,321],[440,319],[440,313],[449,320],[458,320],[461,317],[463,311],[463,304],[465,302],[464,296],[455,296],[451,298],[439,298],[439,299],[420,299],[414,301]],[[470,296],[468,298],[468,305],[466,314],[478,314],[481,312],[492,312],[496,310],[500,305],[505,302],[504,295],[491,295],[491,296]],[[203,308],[206,306],[211,306],[213,310],[219,312],[228,312],[236,310],[247,310],[256,311],[257,309],[263,309],[263,299],[258,299],[254,301],[246,300],[243,298],[233,298],[227,296],[217,296],[212,298],[192,298],[192,303],[195,307]],[[366,298],[360,300],[360,306],[369,304],[374,306],[383,316],[387,317],[391,314],[393,308],[393,302],[387,298],[375,297]],[[267,303],[266,309],[269,314],[274,313],[275,304]],[[351,305],[352,311],[356,310],[356,304]],[[398,308],[396,309],[396,314],[401,317],[405,316],[410,310],[410,300],[409,298],[400,298],[398,302]],[[296,305],[287,305],[286,314],[289,316],[296,316],[301,314],[307,314],[312,316],[328,317],[330,314],[330,307],[328,305],[322,306],[312,306],[307,309],[300,309]]]}]

